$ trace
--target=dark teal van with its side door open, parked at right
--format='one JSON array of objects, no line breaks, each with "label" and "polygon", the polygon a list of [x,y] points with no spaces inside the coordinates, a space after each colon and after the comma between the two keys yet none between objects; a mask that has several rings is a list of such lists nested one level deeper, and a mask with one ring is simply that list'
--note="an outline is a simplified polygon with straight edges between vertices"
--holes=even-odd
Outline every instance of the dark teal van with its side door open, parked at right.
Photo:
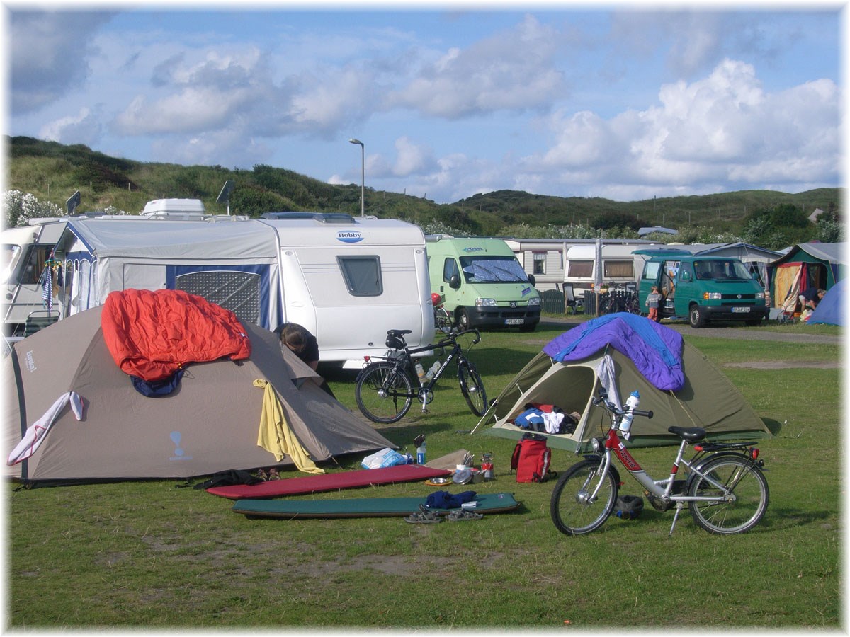
[{"label": "dark teal van with its side door open, parked at right", "polygon": [[673,249],[634,253],[649,255],[638,289],[643,313],[646,297],[657,285],[663,296],[659,317],[687,316],[694,328],[711,321],[757,325],[768,316],[764,288],[739,259]]}]

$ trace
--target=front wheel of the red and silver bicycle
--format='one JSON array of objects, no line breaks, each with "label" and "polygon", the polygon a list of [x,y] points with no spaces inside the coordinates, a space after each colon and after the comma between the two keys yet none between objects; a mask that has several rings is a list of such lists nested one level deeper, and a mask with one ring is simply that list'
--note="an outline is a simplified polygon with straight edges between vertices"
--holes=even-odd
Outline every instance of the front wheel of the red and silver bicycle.
[{"label": "front wheel of the red and silver bicycle", "polygon": [[[597,460],[583,460],[572,465],[558,478],[549,512],[558,531],[582,535],[601,527],[617,502],[619,486],[611,471],[599,476]],[[601,484],[599,484],[601,481]],[[597,498],[588,501],[599,485]]]}]

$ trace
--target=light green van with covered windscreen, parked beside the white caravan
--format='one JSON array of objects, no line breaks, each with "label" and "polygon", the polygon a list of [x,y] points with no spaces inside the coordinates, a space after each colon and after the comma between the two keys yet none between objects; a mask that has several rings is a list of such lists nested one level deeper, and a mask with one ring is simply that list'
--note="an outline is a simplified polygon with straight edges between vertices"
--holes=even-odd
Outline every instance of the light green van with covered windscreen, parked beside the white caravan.
[{"label": "light green van with covered windscreen, parked beside the white caravan", "polygon": [[512,328],[530,332],[540,323],[540,294],[501,239],[428,235],[431,291],[461,330]]}]

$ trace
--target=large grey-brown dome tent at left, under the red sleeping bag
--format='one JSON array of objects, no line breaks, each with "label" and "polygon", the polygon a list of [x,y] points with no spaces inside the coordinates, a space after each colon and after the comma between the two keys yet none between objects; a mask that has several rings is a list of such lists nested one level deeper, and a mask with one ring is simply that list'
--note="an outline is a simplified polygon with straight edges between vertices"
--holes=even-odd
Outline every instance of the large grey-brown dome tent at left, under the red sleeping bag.
[{"label": "large grey-brown dome tent at left, under the red sleeping bag", "polygon": [[258,447],[258,379],[274,386],[291,431],[316,462],[395,446],[323,392],[314,371],[282,352],[269,330],[244,324],[249,358],[189,364],[175,391],[147,397],[111,357],[100,318],[101,307],[65,318],[15,343],[3,360],[7,451],[67,392],[82,399],[82,420],[59,405],[41,445],[8,476],[84,482],[292,465]]}]

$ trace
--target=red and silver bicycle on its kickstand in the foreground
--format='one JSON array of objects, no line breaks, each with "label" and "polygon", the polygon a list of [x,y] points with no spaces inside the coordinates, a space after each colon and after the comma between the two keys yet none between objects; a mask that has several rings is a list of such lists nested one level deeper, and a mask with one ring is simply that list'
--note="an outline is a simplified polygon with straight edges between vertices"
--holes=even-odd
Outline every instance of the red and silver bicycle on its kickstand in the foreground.
[{"label": "red and silver bicycle on its kickstand in the foreground", "polygon": [[[632,457],[619,433],[625,414],[652,418],[652,412],[618,409],[604,390],[600,390],[598,398],[592,398],[592,403],[603,406],[611,425],[605,437],[593,439],[594,453],[558,478],[549,507],[558,531],[581,535],[595,531],[608,520],[622,484],[611,462],[612,454],[643,486],[644,495],[656,510],[676,507],[671,536],[685,503],[694,521],[708,533],[745,533],[762,519],[770,495],[762,473],[764,461],[758,458],[758,448],[752,446],[756,443],[710,443],[705,441],[706,430],[702,427],[668,427],[667,431],[682,442],[670,476],[655,480]],[[624,437],[628,440],[629,433]],[[689,445],[693,445],[694,455],[688,460],[684,455]],[[681,466],[687,475],[677,479]]]}]

